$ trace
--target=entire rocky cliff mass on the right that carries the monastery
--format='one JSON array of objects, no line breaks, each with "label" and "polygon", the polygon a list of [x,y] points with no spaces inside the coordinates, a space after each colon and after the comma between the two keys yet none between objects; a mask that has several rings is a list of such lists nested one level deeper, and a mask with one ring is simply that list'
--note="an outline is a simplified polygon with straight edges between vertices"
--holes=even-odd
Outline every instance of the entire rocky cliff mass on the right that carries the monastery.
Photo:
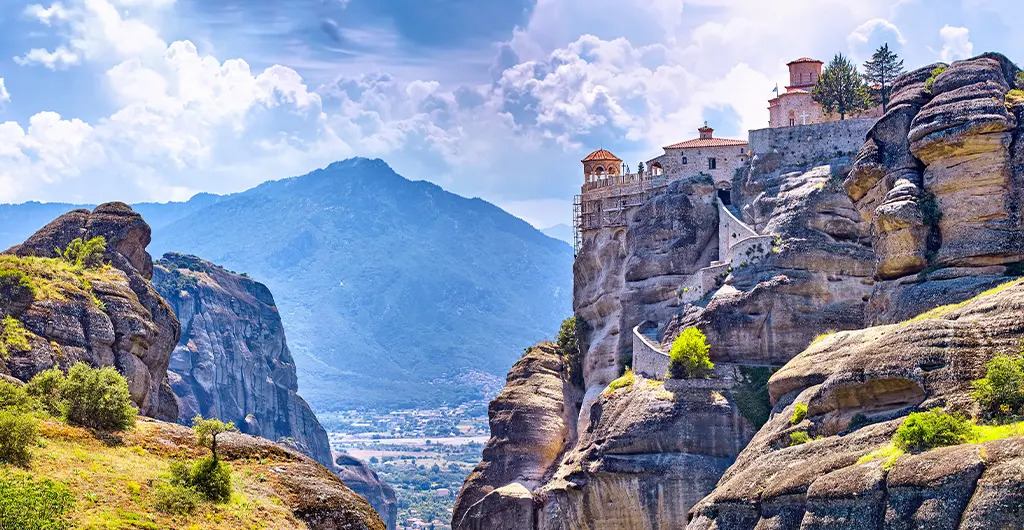
[{"label": "entire rocky cliff mass on the right that carries the monastery", "polygon": [[[967,407],[970,381],[996,352],[1015,351],[1022,332],[1020,285],[939,319],[867,327],[963,302],[1024,271],[1024,97],[1011,93],[1024,78],[994,54],[936,68],[896,82],[889,113],[862,145],[803,159],[757,153],[733,178],[730,207],[716,211],[710,181],[676,182],[632,210],[627,226],[588,231],[574,266],[575,313],[587,324],[575,436],[563,438],[555,465],[518,456],[531,462],[529,476],[485,452],[454,528],[485,528],[488,517],[496,528],[573,530],[682,528],[690,518],[708,530],[1019,528],[1019,439],[901,457],[892,470],[856,466],[909,411]],[[807,127],[808,141],[821,131]],[[720,233],[723,216],[774,236],[771,252],[737,263],[736,233]],[[714,288],[684,301],[680,284],[726,245],[731,268],[712,265],[723,267]],[[672,392],[642,378],[608,390],[643,321],[657,324],[646,337],[663,350],[686,327],[703,330],[715,377],[673,382]],[[759,366],[781,367],[771,379],[774,410],[760,421],[750,413],[756,391],[743,386]],[[509,386],[530,381],[513,370]],[[810,409],[798,426],[788,423],[794,402]],[[493,411],[493,422],[501,417]],[[515,437],[492,443],[563,428],[538,415],[503,424],[496,432],[516,429]],[[822,438],[785,447],[797,430]],[[482,480],[478,472],[492,467],[501,472]],[[538,486],[530,477],[541,469]]]}]

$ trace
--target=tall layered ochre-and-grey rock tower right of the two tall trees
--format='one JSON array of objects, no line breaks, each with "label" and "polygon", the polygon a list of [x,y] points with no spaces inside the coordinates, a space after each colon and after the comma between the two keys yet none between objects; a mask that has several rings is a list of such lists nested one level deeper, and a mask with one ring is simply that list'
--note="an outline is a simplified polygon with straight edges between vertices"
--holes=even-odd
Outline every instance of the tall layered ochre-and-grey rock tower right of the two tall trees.
[{"label": "tall layered ochre-and-grey rock tower right of the two tall trees", "polygon": [[867,323],[970,298],[1024,261],[1024,106],[1008,97],[1015,88],[1024,88],[1020,70],[994,53],[894,84],[845,183],[871,223],[882,280]]}]

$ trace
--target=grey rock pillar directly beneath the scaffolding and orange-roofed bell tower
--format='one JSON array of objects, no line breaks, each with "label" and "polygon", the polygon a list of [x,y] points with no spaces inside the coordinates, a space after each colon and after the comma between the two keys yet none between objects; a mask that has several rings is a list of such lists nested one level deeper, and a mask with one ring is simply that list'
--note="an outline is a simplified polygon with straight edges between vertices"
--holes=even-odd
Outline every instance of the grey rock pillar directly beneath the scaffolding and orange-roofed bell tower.
[{"label": "grey rock pillar directly beneath the scaffolding and orange-roofed bell tower", "polygon": [[[573,307],[587,325],[585,409],[630,363],[633,327],[668,321],[679,311],[679,285],[718,257],[711,177],[673,182],[636,210],[628,226],[588,236],[572,267]],[[584,414],[580,426],[588,422]]]}]

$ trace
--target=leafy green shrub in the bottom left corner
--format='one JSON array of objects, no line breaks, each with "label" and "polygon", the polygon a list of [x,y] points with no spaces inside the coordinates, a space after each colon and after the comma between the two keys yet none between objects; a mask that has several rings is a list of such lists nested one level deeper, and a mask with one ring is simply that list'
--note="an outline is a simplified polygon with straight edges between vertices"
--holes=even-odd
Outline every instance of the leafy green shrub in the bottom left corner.
[{"label": "leafy green shrub in the bottom left corner", "polygon": [[0,474],[0,528],[65,530],[75,522],[65,515],[75,505],[71,489],[22,473]]}]

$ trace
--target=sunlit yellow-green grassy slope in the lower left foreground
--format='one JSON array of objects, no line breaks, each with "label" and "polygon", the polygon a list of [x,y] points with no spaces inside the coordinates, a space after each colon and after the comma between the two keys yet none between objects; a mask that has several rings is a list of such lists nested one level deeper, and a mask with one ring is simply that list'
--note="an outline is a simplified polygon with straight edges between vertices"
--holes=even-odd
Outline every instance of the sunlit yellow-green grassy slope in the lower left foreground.
[{"label": "sunlit yellow-green grassy slope in the lower left foreground", "polygon": [[28,473],[67,484],[77,499],[72,519],[88,529],[290,529],[295,519],[267,468],[271,454],[234,459],[234,494],[226,504],[203,504],[190,516],[154,507],[155,482],[174,458],[196,457],[205,449],[163,435],[162,424],[139,418],[120,440],[100,439],[87,430],[54,421],[40,426],[39,447],[26,469],[0,466],[0,473]]}]

